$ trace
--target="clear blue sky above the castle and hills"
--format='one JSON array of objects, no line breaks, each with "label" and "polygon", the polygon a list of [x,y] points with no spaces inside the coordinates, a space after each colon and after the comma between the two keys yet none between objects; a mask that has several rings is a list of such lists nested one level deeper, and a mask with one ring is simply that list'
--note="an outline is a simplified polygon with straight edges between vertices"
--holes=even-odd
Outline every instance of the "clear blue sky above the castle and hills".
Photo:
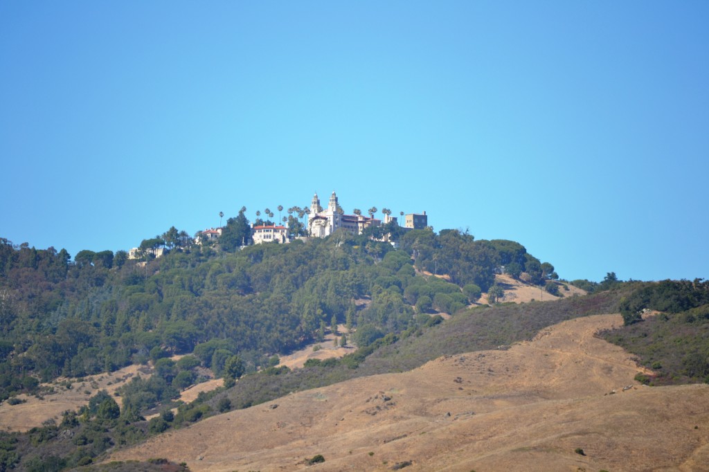
[{"label": "clear blue sky above the castle and hills", "polygon": [[709,278],[709,2],[3,1],[0,237],[337,191],[566,279]]}]

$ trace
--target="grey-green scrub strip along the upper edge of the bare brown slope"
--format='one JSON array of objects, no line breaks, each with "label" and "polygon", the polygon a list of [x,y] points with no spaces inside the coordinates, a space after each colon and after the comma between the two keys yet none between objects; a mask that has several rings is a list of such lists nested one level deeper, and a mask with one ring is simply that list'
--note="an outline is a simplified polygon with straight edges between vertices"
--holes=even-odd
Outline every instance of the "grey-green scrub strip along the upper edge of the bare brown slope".
[{"label": "grey-green scrub strip along the upper edge of the bare brown slope", "polygon": [[213,407],[220,398],[229,398],[233,408],[245,408],[288,393],[318,388],[349,378],[415,369],[442,355],[496,349],[498,346],[532,339],[542,328],[579,316],[617,313],[621,291],[566,298],[550,302],[510,304],[475,308],[420,335],[412,335],[381,347],[359,368],[318,366],[281,375],[253,375],[242,378],[230,390],[209,400]]}]

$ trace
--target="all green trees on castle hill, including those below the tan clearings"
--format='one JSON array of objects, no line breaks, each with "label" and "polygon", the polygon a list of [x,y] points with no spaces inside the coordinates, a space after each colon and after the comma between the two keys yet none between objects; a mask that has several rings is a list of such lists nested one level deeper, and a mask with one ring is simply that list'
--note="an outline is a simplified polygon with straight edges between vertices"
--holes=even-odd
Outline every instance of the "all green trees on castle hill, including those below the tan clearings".
[{"label": "all green trees on castle hill, including those below the tan clearings", "polygon": [[[315,373],[311,385],[345,378],[367,354],[440,320],[427,315],[429,310],[454,313],[475,300],[491,286],[503,260],[492,242],[457,231],[414,230],[401,236],[398,250],[372,240],[378,228],[357,237],[338,232],[322,240],[240,248],[233,243],[247,240],[243,214],[230,219],[228,227],[223,241],[202,245],[172,227],[144,240],[138,260],[125,252],[82,251],[72,262],[63,249],[1,240],[1,400],[18,393],[49,395],[40,381],[58,376],[81,377],[148,361],[155,366],[155,375],[135,378],[121,389],[121,410],[99,394],[94,407],[101,408],[79,416],[66,412],[60,424],[8,436],[5,466],[32,463],[28,444],[40,448],[42,457],[55,458],[40,461],[47,470],[76,466],[112,445],[132,444],[169,425],[231,408],[203,405],[210,396],[203,395],[174,418],[143,420],[150,408],[174,405],[172,399],[194,382],[197,369],[228,379],[263,369],[262,375],[247,378],[281,378],[287,371],[272,367],[274,354],[321,339],[337,323],[357,328],[362,349],[347,356],[346,369],[345,364],[330,366],[329,377],[318,367],[303,372]],[[169,252],[155,258],[159,247]],[[532,266],[538,263],[525,258]],[[417,274],[429,269],[450,271],[455,283]],[[167,359],[173,354],[191,355],[174,362]],[[297,388],[307,388],[296,382]],[[282,389],[257,388],[257,394],[233,406]],[[85,439],[57,436],[67,428]]]}]

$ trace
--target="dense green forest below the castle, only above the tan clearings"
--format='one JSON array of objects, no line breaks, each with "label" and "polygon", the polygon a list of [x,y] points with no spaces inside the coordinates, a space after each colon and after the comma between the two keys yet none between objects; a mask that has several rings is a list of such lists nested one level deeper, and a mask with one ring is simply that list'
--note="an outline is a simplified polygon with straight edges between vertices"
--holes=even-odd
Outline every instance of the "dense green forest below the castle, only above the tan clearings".
[{"label": "dense green forest below the castle, only above the tan clearings", "polygon": [[[33,393],[38,381],[188,354],[218,339],[218,349],[238,354],[255,371],[273,354],[322,337],[333,322],[403,332],[417,325],[413,307],[464,308],[490,288],[508,258],[500,242],[454,230],[408,232],[399,250],[368,233],[344,232],[240,250],[232,243],[247,238],[243,213],[227,227],[224,247],[193,245],[172,227],[143,241],[140,261],[123,252],[82,251],[71,262],[63,249],[2,240],[0,400]],[[161,245],[170,252],[152,257]],[[538,260],[514,245],[534,273]],[[416,270],[450,272],[454,283]],[[365,299],[366,306],[354,303]],[[212,364],[207,354],[200,362]],[[163,390],[174,395],[173,387],[179,388]]]}]

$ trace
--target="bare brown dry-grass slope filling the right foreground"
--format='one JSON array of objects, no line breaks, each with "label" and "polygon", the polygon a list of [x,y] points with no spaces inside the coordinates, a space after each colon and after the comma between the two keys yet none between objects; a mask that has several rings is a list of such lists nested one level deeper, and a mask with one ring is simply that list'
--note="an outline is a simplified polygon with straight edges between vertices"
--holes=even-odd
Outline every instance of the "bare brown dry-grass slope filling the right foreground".
[{"label": "bare brown dry-grass slope filling the right foreground", "polygon": [[[620,322],[570,320],[507,351],[296,393],[110,460],[167,457],[194,471],[384,471],[405,461],[407,471],[707,470],[709,386],[637,384],[630,356],[593,336]],[[316,454],[325,462],[307,466]]]}]

